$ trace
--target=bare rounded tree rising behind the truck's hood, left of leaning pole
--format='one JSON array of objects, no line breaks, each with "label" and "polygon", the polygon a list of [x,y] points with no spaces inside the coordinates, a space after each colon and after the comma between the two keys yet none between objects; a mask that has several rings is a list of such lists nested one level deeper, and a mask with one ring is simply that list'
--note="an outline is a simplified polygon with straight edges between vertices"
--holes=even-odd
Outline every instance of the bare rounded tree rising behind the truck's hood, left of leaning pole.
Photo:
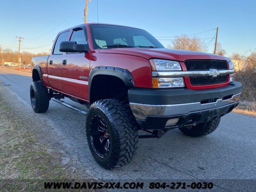
[{"label": "bare rounded tree rising behind the truck's hood, left of leaning pole", "polygon": [[204,40],[198,38],[197,36],[189,37],[186,36],[186,34],[182,34],[182,36],[176,36],[175,40],[172,41],[172,46],[167,45],[167,48],[201,52],[207,51],[207,46]]}]

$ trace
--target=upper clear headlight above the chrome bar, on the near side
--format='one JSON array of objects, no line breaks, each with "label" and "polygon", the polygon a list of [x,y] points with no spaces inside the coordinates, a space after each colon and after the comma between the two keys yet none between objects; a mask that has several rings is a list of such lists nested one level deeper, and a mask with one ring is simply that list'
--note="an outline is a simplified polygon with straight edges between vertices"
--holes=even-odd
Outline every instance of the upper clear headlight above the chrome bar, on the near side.
[{"label": "upper clear headlight above the chrome bar, on the near side", "polygon": [[177,61],[162,60],[162,59],[150,59],[152,71],[181,71],[180,63]]}]

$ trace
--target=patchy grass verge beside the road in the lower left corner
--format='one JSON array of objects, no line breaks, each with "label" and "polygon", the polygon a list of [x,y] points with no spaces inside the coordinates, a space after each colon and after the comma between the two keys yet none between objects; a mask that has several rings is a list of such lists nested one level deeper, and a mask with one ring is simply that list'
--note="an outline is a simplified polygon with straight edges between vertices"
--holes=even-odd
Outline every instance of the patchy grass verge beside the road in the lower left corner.
[{"label": "patchy grass verge beside the road in the lower left corner", "polygon": [[40,138],[4,100],[0,92],[0,190],[42,191],[44,182],[64,180],[70,172],[58,152],[49,152]]}]

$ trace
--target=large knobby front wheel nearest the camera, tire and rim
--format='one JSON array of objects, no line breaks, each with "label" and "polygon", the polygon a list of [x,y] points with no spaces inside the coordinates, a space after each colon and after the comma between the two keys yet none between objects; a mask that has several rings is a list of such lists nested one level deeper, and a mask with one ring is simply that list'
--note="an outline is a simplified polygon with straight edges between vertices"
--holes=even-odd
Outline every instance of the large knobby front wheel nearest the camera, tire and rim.
[{"label": "large knobby front wheel nearest the camera, tire and rim", "polygon": [[130,162],[138,148],[138,129],[129,104],[116,99],[94,102],[88,110],[86,136],[92,156],[103,168]]}]

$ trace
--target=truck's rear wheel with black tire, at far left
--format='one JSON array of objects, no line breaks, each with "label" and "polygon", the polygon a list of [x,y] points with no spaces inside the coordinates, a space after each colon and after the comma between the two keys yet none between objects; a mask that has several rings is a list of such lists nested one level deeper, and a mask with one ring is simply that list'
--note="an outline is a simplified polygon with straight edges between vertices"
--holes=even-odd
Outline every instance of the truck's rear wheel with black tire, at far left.
[{"label": "truck's rear wheel with black tire, at far left", "polygon": [[49,108],[48,89],[41,81],[34,81],[30,86],[30,101],[34,112],[43,113]]}]

